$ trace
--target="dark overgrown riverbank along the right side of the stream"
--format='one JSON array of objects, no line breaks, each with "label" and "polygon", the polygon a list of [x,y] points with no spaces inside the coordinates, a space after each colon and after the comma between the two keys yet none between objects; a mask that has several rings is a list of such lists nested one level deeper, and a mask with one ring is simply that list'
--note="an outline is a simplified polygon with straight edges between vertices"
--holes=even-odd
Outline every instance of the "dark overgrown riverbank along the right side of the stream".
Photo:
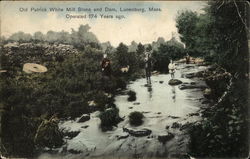
[{"label": "dark overgrown riverbank along the right side of the stream", "polygon": [[213,65],[210,69],[189,74],[202,78],[209,89],[210,101],[202,112],[202,120],[190,129],[190,154],[197,158],[248,156],[248,80],[239,79]]}]

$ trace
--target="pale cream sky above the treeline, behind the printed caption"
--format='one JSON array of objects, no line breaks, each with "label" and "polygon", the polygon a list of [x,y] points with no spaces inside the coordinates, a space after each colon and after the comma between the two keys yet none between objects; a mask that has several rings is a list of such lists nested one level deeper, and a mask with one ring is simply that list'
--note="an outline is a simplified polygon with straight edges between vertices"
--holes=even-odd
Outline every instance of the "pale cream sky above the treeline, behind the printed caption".
[{"label": "pale cream sky above the treeline, behind the printed caption", "polygon": [[[177,33],[175,18],[178,11],[192,10],[202,13],[206,5],[204,1],[165,1],[165,2],[58,2],[58,1],[1,1],[1,35],[9,37],[11,34],[23,31],[33,34],[41,31],[46,34],[52,31],[77,30],[83,24],[88,24],[100,42],[107,42],[117,46],[120,42],[130,44],[132,41],[151,43],[158,37],[169,40],[172,32]],[[63,8],[62,12],[50,12],[49,8]],[[66,8],[91,8],[91,12],[67,12]],[[115,8],[117,12],[105,12],[105,8]],[[148,8],[160,8],[161,11],[150,12]],[[28,8],[28,11],[21,11]],[[47,11],[30,11],[31,8],[46,8]],[[93,12],[94,8],[102,11]],[[144,8],[146,12],[121,12],[120,8]],[[97,18],[66,18],[66,15],[96,14]],[[113,15],[113,19],[101,18],[100,14]],[[125,18],[117,19],[116,15]],[[178,34],[176,34],[178,36]]]}]

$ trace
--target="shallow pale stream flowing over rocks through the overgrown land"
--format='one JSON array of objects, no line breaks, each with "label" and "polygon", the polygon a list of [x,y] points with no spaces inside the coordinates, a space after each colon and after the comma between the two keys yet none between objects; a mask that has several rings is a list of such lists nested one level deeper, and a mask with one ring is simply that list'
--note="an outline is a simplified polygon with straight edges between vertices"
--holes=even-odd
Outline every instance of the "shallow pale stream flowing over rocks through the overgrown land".
[{"label": "shallow pale stream flowing over rocks through the overgrown land", "polygon": [[[177,64],[175,79],[184,84],[205,87],[204,81],[185,77],[187,73],[205,70],[206,66],[195,64]],[[189,134],[186,131],[200,120],[199,111],[205,101],[201,88],[183,89],[178,85],[171,86],[170,74],[159,74],[151,77],[151,85],[146,79],[130,82],[127,90],[136,92],[136,101],[128,102],[126,93],[115,97],[115,104],[124,121],[112,131],[103,132],[100,128],[99,112],[90,114],[90,120],[78,123],[76,120],[61,121],[60,129],[69,132],[80,131],[66,144],[57,149],[56,154],[43,153],[38,158],[155,158],[178,157],[188,152]],[[203,88],[204,89],[204,88]],[[128,115],[139,111],[144,115],[141,126],[131,126]],[[149,135],[135,137],[124,128],[133,131],[150,130]]]}]

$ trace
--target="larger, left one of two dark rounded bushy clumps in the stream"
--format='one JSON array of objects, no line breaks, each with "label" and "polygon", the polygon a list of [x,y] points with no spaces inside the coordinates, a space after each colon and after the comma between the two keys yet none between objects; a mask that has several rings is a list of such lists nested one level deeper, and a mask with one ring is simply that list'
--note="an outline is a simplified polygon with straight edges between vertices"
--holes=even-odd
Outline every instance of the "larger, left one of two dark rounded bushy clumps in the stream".
[{"label": "larger, left one of two dark rounded bushy clumps in the stream", "polygon": [[101,119],[101,128],[103,130],[111,130],[112,126],[116,126],[122,119],[119,116],[118,108],[108,108],[99,115]]}]

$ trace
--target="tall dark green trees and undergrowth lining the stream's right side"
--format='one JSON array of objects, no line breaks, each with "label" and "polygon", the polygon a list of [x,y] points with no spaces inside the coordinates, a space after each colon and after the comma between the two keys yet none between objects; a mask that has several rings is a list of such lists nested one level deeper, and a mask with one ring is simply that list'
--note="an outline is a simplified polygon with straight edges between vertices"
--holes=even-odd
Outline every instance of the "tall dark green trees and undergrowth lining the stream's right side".
[{"label": "tall dark green trees and undergrowth lining the stream's right side", "polygon": [[204,57],[232,74],[231,85],[226,78],[206,80],[217,104],[207,108],[204,120],[190,130],[194,157],[248,156],[247,7],[244,1],[210,1],[204,13],[183,11],[176,19],[191,56]]}]

